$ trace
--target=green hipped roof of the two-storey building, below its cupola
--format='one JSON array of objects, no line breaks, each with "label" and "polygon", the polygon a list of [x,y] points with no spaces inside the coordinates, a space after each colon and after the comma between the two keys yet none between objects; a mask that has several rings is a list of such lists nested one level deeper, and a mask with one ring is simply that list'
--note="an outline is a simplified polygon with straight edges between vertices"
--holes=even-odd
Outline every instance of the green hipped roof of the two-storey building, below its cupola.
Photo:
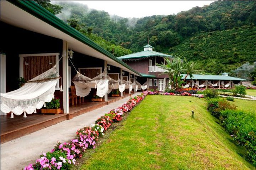
[{"label": "green hipped roof of the two-storey building, below its cupola", "polygon": [[163,53],[151,51],[151,50],[140,51],[140,52],[128,54],[128,55],[117,57],[117,58],[122,60],[122,59],[146,58],[146,57],[154,57],[154,56],[174,58],[171,55],[167,55],[167,54],[163,54]]}]

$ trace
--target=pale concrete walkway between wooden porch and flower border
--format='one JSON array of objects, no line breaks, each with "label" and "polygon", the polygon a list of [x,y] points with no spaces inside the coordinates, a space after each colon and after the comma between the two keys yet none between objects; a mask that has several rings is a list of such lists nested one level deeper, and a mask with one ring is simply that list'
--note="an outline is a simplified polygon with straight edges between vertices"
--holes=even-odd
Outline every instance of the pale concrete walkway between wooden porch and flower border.
[{"label": "pale concrete walkway between wooden porch and flower border", "polygon": [[[141,92],[137,92],[132,96],[139,94]],[[90,126],[97,118],[121,106],[128,100],[129,97],[123,98],[73,119],[62,121],[32,134],[1,144],[1,169],[21,170],[30,163],[35,163],[43,152],[49,152],[57,142],[70,141],[75,137],[77,129]]]}]

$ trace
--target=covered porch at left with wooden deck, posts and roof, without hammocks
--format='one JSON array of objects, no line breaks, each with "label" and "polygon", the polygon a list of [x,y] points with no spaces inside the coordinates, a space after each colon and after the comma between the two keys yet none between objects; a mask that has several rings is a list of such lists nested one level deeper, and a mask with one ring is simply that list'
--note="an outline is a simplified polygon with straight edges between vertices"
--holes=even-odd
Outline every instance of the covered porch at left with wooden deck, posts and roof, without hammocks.
[{"label": "covered porch at left with wooden deck, posts and roof, without hammocks", "polygon": [[[136,76],[140,76],[140,73],[54,15],[47,13],[42,7],[38,7],[34,2],[17,2],[18,5],[22,3],[32,3],[30,5],[34,5],[34,8],[44,13],[44,16],[41,16],[42,13],[38,11],[33,11],[29,6],[23,6],[26,8],[25,11],[15,6],[15,2],[1,1],[1,37],[5,41],[1,44],[1,93],[19,89],[18,78],[23,77],[28,81],[57,64],[57,72],[62,79],[57,83],[54,95],[60,98],[60,109],[64,114],[43,115],[38,109],[38,114],[26,114],[27,118],[23,118],[23,114],[14,115],[11,119],[10,113],[1,112],[1,143],[69,120],[129,96],[128,90],[125,95],[120,94],[119,97],[105,94],[102,102],[91,102],[90,96],[95,92],[92,90],[90,96],[84,97],[84,102],[70,105],[72,102],[69,102],[69,92],[70,86],[73,85],[71,79],[76,74],[70,61],[75,63],[77,70],[79,68],[100,68],[101,72],[111,73],[113,71],[113,73],[119,73],[120,76],[123,72],[124,75]],[[73,59],[69,58],[71,49],[74,51]],[[108,66],[111,67],[110,70]],[[41,71],[38,72],[38,70]],[[63,91],[60,91],[61,85]]]}]

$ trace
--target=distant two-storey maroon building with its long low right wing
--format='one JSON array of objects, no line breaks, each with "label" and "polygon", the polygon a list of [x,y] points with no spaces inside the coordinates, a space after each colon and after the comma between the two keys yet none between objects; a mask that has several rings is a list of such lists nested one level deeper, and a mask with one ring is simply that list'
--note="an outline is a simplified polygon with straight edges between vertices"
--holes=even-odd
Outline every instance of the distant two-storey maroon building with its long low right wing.
[{"label": "distant two-storey maroon building with its long low right wing", "polygon": [[[167,74],[162,74],[165,72],[164,69],[156,66],[156,63],[164,63],[164,58],[167,57],[169,60],[172,60],[174,57],[164,53],[153,51],[151,45],[147,44],[144,47],[144,51],[136,52],[133,54],[125,55],[118,57],[118,59],[127,63],[128,66],[132,67],[134,70],[139,73],[144,73],[148,75],[153,75],[154,77],[145,78],[140,77],[140,80],[137,80],[139,83],[148,82],[148,89],[159,89],[164,91],[166,87],[169,87],[169,76]],[[185,74],[183,74],[183,79]],[[131,80],[133,81],[133,79]],[[186,78],[186,87],[233,87],[235,85],[241,84],[241,81],[244,79],[235,78],[228,76],[228,73],[222,73],[222,75],[198,75],[193,74],[192,80],[190,77]]]}]

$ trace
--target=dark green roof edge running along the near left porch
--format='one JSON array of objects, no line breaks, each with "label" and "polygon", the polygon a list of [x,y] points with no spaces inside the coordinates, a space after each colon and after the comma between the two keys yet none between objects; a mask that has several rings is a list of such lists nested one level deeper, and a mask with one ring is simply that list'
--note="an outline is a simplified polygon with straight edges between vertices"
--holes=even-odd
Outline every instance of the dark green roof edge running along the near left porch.
[{"label": "dark green roof edge running along the near left porch", "polygon": [[[78,30],[72,28],[68,24],[66,24],[64,21],[47,11],[45,8],[43,8],[41,5],[38,5],[34,1],[8,1],[11,4],[14,4],[15,6],[21,8],[22,10],[30,13],[31,15],[41,19],[42,21],[50,24],[54,28],[59,29],[65,34],[70,35],[71,37],[75,38],[78,41],[81,41],[82,43],[92,47],[93,49],[97,50],[98,52],[101,52],[102,54],[106,55],[108,58],[111,58],[115,62],[121,64],[122,66],[128,68],[129,70],[133,71],[134,73],[140,75],[139,72],[132,69],[130,66],[128,66],[126,63],[122,62],[121,60],[118,60],[117,57],[112,55],[110,52],[103,49],[100,45],[96,44],[91,39],[87,38],[85,35],[81,34]],[[141,76],[141,75],[140,75]]]}]

